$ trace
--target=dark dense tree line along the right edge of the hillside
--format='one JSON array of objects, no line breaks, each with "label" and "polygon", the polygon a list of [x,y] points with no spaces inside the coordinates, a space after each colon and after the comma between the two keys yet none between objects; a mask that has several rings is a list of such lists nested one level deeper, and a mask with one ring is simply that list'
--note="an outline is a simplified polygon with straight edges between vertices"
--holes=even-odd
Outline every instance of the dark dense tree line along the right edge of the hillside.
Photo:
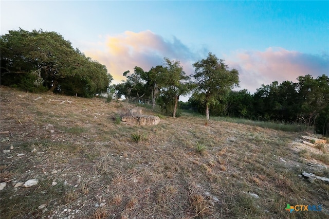
[{"label": "dark dense tree line along the right edge of the hillside", "polygon": [[[329,135],[329,78],[299,76],[298,82],[277,81],[262,85],[254,94],[248,90],[231,90],[211,105],[213,116],[229,116],[259,121],[296,123],[314,126],[317,133]],[[206,108],[195,95],[185,107]]]}]

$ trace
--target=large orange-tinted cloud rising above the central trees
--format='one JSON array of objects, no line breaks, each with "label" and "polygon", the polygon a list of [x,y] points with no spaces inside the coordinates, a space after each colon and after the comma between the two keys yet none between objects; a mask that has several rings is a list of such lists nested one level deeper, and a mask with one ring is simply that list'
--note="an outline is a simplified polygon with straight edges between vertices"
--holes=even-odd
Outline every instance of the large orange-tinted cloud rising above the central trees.
[{"label": "large orange-tinted cloud rising above the central trees", "polygon": [[84,45],[86,56],[106,65],[114,77],[114,83],[125,80],[123,72],[133,72],[135,66],[145,71],[152,66],[163,64],[163,58],[179,60],[187,74],[192,74],[192,63],[198,59],[198,53],[181,43],[173,36],[171,41],[150,30],[141,32],[125,31],[115,36],[100,37],[101,42]]}]

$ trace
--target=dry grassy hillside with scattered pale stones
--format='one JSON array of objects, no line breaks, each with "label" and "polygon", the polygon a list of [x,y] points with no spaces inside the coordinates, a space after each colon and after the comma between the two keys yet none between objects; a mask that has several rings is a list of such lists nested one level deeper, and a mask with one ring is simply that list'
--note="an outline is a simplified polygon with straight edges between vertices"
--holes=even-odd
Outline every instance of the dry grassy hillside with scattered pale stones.
[{"label": "dry grassy hillside with scattered pale stones", "polygon": [[0,93],[1,218],[329,218],[329,184],[300,175],[329,177],[329,144],[308,133],[188,114],[138,126],[116,119],[124,102]]}]

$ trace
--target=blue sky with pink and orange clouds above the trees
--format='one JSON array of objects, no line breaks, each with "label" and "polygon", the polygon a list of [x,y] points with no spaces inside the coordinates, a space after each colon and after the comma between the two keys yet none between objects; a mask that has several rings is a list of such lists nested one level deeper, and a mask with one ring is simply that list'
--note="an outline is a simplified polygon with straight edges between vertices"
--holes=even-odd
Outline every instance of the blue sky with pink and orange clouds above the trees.
[{"label": "blue sky with pink and orange clouds above the trees", "polygon": [[188,75],[208,53],[239,71],[240,89],[329,76],[329,1],[4,1],[8,30],[55,31],[107,67],[113,84],[163,58]]}]

